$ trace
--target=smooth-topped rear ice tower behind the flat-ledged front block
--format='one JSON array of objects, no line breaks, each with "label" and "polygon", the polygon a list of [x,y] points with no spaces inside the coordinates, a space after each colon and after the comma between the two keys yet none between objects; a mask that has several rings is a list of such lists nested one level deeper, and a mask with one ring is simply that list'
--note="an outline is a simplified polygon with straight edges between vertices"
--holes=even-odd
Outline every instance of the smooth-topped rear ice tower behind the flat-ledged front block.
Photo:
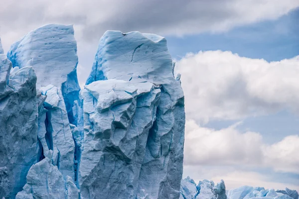
[{"label": "smooth-topped rear ice tower behind the flat-ledged front block", "polygon": [[[141,141],[146,143],[146,151],[140,174],[136,175],[138,192],[143,190],[153,199],[179,197],[185,113],[183,92],[180,81],[173,76],[173,67],[165,38],[140,32],[107,31],[100,39],[92,71],[86,81],[86,85],[112,79],[149,82],[161,89],[153,125],[149,134],[144,136],[145,140]],[[112,116],[107,115],[106,118],[111,120]]]}]

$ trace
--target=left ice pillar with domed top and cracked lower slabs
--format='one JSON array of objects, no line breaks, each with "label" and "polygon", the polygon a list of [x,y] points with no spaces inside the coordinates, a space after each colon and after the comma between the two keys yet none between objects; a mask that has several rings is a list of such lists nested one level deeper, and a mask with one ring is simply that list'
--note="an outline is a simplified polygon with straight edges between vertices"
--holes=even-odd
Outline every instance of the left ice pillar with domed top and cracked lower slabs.
[{"label": "left ice pillar with domed top and cracked lower slabs", "polygon": [[[37,76],[42,105],[38,114],[39,160],[53,151],[53,164],[64,177],[75,178],[70,123],[77,125],[78,106],[77,43],[72,25],[48,24],[27,33],[11,45],[7,57],[12,66],[32,66]],[[78,108],[75,108],[78,110]]]}]

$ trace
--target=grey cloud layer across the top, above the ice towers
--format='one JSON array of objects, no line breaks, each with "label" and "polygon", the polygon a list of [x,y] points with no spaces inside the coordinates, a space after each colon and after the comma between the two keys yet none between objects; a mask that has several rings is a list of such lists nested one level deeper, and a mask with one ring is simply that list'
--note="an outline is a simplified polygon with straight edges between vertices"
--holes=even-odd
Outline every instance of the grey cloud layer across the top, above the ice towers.
[{"label": "grey cloud layer across the top, above the ice towers", "polygon": [[178,36],[222,32],[276,19],[298,6],[296,0],[6,0],[0,25],[7,48],[45,23],[72,23],[78,41],[97,42],[108,29]]}]

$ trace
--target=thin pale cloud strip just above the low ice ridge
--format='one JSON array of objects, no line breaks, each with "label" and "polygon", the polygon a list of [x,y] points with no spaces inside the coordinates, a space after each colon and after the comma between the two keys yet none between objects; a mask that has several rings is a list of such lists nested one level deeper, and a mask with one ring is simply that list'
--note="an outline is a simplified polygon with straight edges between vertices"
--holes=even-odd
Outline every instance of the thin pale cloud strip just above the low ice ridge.
[{"label": "thin pale cloud strip just above the low ice ridge", "polygon": [[190,176],[198,183],[204,179],[212,180],[216,184],[224,180],[226,190],[241,186],[265,187],[266,189],[299,190],[298,175],[292,173],[273,173],[265,170],[252,171],[240,166],[204,166],[184,165],[183,178]]}]

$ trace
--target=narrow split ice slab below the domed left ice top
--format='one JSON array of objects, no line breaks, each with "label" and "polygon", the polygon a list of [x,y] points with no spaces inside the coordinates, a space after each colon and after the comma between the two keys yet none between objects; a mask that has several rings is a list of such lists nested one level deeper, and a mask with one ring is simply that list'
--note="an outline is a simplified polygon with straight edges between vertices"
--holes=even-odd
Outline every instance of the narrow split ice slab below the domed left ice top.
[{"label": "narrow split ice slab below the domed left ice top", "polygon": [[53,151],[52,161],[63,176],[71,176],[74,179],[75,144],[61,91],[52,85],[42,87],[41,91],[46,94],[44,113],[40,113],[45,114],[41,118],[45,126],[39,129],[42,133],[38,133],[38,138],[43,145],[44,153],[48,150]]}]

